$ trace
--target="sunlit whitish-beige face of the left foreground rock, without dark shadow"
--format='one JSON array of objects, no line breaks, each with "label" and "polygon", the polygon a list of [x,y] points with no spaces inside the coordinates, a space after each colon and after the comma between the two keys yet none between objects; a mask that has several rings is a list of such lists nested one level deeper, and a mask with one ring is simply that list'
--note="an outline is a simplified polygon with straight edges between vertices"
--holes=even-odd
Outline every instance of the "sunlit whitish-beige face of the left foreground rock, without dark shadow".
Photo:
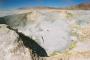
[{"label": "sunlit whitish-beige face of the left foreground rock, without dark shadow", "polygon": [[0,24],[0,60],[32,60],[19,35],[7,27]]}]

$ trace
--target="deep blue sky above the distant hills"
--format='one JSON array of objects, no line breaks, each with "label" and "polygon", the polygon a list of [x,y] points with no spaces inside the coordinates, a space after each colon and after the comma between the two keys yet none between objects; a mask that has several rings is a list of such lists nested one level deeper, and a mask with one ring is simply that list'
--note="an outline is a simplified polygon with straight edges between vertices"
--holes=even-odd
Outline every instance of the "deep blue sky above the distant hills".
[{"label": "deep blue sky above the distant hills", "polygon": [[25,7],[68,7],[90,0],[0,0],[0,9],[15,9]]}]

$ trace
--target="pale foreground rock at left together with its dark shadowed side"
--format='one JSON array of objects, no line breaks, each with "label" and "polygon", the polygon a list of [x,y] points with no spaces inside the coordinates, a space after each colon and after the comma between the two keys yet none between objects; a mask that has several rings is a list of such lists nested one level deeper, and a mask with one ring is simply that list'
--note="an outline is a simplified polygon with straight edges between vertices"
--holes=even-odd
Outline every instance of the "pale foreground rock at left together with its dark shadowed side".
[{"label": "pale foreground rock at left together with its dark shadowed side", "polygon": [[0,60],[39,60],[47,54],[36,42],[0,24]]}]

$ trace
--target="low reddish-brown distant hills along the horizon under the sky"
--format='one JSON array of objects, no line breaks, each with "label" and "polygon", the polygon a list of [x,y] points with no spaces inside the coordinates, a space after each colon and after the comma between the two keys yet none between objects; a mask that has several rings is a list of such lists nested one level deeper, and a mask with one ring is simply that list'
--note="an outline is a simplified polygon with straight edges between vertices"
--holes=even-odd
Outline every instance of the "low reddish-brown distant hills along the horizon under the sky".
[{"label": "low reddish-brown distant hills along the horizon under the sky", "polygon": [[82,4],[78,4],[78,5],[74,5],[74,6],[69,6],[69,7],[65,7],[65,8],[56,8],[56,7],[45,7],[45,6],[37,6],[37,7],[22,7],[22,8],[18,8],[20,10],[25,10],[25,9],[69,9],[69,10],[90,10],[90,3],[82,3]]}]

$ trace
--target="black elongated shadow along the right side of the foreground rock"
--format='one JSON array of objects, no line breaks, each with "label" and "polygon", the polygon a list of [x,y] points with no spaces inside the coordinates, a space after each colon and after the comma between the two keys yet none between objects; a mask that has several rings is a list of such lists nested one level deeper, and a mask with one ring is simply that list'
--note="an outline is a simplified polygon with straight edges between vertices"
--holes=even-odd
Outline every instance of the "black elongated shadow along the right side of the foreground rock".
[{"label": "black elongated shadow along the right side of the foreground rock", "polygon": [[31,48],[33,50],[32,51],[33,53],[37,53],[41,57],[46,57],[47,56],[46,51],[41,46],[39,46],[34,40],[32,40],[31,38],[25,36],[22,33],[18,33],[18,34],[21,37],[24,45],[27,48]]}]

